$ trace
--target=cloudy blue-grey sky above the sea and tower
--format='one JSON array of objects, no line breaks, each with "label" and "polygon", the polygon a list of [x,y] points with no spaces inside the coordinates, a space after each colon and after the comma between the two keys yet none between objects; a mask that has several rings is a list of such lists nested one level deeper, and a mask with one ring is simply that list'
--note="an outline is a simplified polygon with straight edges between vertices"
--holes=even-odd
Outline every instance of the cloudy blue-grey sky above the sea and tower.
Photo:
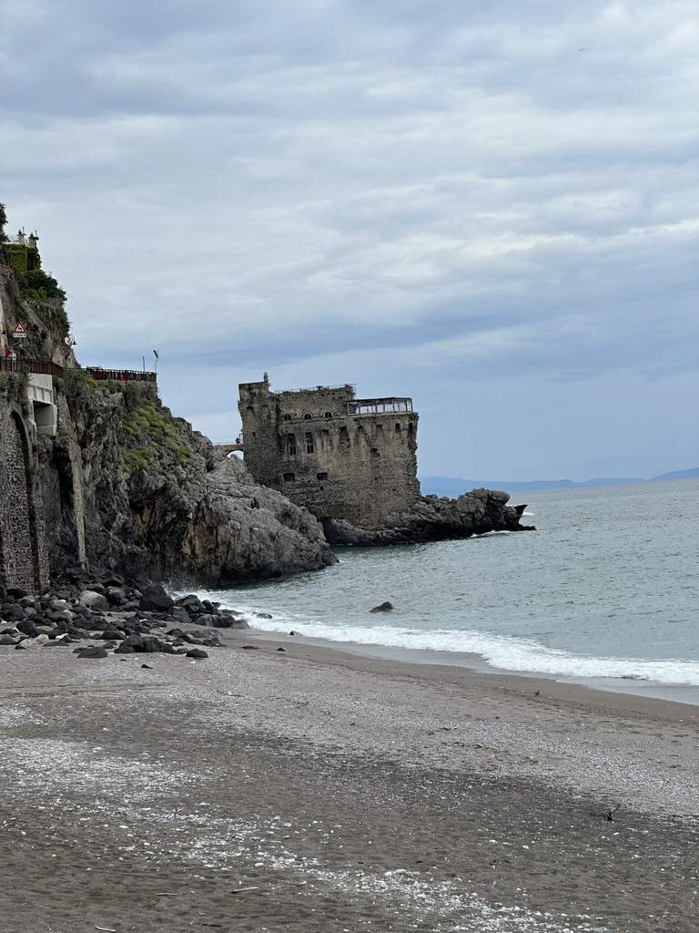
[{"label": "cloudy blue-grey sky above the sea and tower", "polygon": [[419,472],[699,465],[694,0],[4,0],[0,202],[84,366],[410,396]]}]

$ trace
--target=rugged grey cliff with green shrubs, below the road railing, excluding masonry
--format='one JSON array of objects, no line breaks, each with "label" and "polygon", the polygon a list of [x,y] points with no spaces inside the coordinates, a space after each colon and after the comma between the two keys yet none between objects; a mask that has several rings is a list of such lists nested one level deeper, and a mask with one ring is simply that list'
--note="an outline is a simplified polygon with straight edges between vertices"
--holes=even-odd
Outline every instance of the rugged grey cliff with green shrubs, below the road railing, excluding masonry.
[{"label": "rugged grey cliff with green shrubs, below the road railing, excluding masonry", "polygon": [[[66,371],[61,389],[71,437],[45,441],[42,456],[45,488],[58,476],[68,492],[60,517],[48,522],[53,568],[75,563],[81,511],[89,566],[133,576],[226,586],[334,563],[305,509],[255,485],[240,461],[173,418],[152,384],[96,383]],[[74,445],[82,503],[71,494]]]}]

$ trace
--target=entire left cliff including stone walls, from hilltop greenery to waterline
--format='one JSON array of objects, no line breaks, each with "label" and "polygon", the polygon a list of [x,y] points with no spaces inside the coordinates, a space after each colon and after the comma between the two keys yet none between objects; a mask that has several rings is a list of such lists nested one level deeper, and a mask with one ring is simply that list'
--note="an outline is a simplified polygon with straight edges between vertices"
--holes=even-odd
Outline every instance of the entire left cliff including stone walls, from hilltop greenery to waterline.
[{"label": "entire left cliff including stone walls, from hilltop greenery to waterline", "polygon": [[[226,586],[335,563],[306,509],[172,417],[155,385],[79,369],[62,293],[22,274],[0,261],[0,583],[39,589],[47,568],[81,564]],[[23,343],[11,338],[18,321]],[[46,390],[54,429],[37,430],[28,360],[62,368]]]}]

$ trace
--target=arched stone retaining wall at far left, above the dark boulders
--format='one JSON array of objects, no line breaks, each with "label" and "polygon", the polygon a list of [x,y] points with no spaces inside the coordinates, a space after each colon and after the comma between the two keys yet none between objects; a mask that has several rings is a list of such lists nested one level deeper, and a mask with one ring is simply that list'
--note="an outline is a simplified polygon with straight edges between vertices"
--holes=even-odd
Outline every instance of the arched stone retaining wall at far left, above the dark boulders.
[{"label": "arched stone retaining wall at far left, above the dark boulders", "polygon": [[9,403],[0,420],[0,582],[26,592],[48,583],[35,459],[21,408]]}]

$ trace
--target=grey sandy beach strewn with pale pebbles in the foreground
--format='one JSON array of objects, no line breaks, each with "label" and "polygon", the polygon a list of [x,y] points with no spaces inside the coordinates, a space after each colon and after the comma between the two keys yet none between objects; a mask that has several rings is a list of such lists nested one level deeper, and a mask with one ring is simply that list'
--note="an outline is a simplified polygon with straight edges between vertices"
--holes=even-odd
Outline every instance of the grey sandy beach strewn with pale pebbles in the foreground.
[{"label": "grey sandy beach strewn with pale pebbles in the foreground", "polygon": [[0,648],[2,931],[696,929],[699,707],[222,634]]}]

